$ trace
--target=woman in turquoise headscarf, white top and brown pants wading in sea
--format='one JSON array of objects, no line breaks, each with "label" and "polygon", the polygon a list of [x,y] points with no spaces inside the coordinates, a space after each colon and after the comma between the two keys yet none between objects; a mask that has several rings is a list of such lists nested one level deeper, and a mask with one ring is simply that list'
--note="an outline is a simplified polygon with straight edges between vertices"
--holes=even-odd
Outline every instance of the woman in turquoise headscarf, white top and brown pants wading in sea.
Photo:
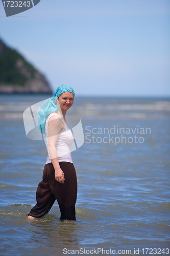
[{"label": "woman in turquoise headscarf, white top and brown pants wading in sea", "polygon": [[39,129],[45,133],[48,145],[48,157],[37,188],[37,204],[31,209],[29,219],[47,214],[57,199],[60,220],[76,220],[77,177],[71,159],[74,136],[65,119],[67,110],[74,103],[74,96],[74,90],[62,84],[37,112]]}]

